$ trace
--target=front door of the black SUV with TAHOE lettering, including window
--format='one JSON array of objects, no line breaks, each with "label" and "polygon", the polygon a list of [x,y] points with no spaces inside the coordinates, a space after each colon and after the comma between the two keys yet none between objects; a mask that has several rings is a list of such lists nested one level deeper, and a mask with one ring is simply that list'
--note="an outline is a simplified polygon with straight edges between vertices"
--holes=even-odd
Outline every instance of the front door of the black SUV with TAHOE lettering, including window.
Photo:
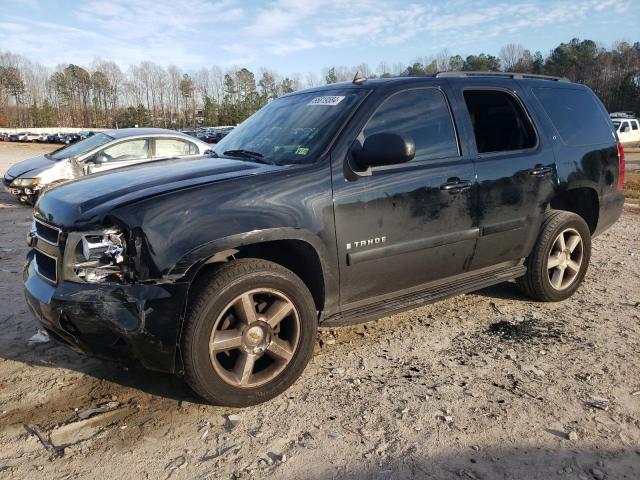
[{"label": "front door of the black SUV with TAHOE lettering, including window", "polygon": [[351,141],[385,132],[411,137],[414,159],[366,174],[349,173],[349,155],[334,163],[343,309],[462,273],[478,236],[473,161],[461,153],[445,92],[387,95]]}]

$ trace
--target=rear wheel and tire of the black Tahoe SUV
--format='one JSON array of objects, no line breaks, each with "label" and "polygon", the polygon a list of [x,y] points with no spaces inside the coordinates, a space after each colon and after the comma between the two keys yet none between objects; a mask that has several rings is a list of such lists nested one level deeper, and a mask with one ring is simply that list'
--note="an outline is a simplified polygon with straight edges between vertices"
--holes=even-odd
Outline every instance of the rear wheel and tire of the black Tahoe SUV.
[{"label": "rear wheel and tire of the black Tahoe SUV", "polygon": [[[580,237],[580,243],[574,246],[576,235]],[[545,214],[538,239],[526,259],[527,273],[516,283],[522,293],[536,300],[565,300],[580,287],[590,258],[591,233],[582,217],[562,210],[550,210]]]}]

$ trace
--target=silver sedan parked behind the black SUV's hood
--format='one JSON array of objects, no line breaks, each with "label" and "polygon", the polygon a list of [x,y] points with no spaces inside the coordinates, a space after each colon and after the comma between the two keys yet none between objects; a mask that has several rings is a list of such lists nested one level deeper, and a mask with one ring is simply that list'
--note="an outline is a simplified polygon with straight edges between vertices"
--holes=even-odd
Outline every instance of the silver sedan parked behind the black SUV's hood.
[{"label": "silver sedan parked behind the black SUV's hood", "polygon": [[62,182],[140,162],[204,155],[211,145],[173,130],[123,128],[96,133],[85,140],[13,165],[4,185],[33,205],[46,188]]}]

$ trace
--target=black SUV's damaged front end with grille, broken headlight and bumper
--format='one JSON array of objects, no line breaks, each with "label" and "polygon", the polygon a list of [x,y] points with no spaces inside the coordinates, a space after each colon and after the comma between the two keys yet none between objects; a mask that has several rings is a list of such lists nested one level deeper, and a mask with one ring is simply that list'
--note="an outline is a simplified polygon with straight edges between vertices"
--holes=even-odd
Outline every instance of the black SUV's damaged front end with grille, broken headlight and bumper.
[{"label": "black SUV's damaged front end with grille, broken headlight and bumper", "polygon": [[188,283],[140,275],[144,238],[110,222],[64,232],[35,219],[25,296],[54,337],[75,350],[174,372]]}]

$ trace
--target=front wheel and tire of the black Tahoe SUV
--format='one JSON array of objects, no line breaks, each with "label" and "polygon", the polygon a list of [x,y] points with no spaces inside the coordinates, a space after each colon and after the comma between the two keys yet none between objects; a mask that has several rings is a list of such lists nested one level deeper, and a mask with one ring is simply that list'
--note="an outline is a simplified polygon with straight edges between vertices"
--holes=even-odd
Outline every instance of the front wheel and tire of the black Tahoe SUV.
[{"label": "front wheel and tire of the black Tahoe SUV", "polygon": [[181,352],[185,379],[198,395],[215,405],[246,407],[296,381],[313,355],[318,322],[300,278],[276,263],[239,259],[195,288]]}]

